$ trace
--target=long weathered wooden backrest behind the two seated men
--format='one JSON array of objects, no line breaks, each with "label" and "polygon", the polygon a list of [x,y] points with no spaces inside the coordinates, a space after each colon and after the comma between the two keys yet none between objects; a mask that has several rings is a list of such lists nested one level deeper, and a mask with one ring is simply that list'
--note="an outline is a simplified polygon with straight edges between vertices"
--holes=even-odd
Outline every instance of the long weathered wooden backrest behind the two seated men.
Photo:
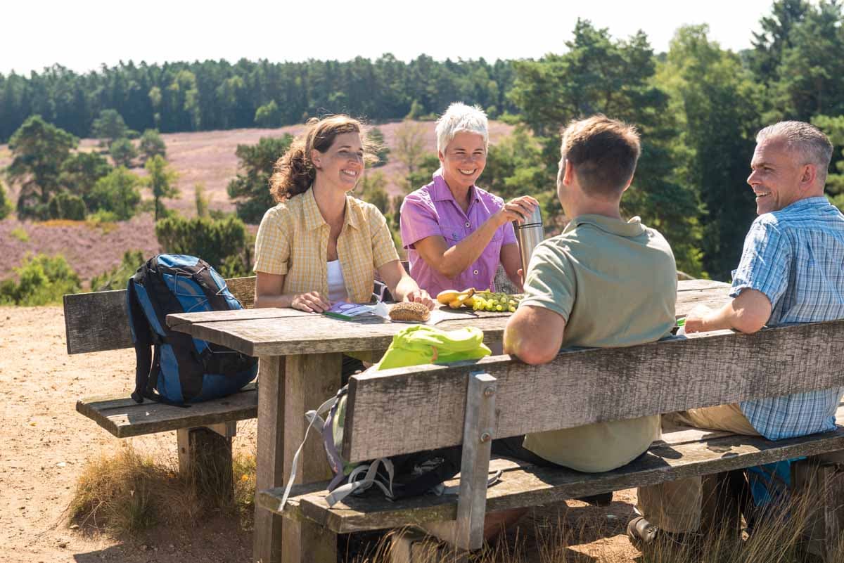
[{"label": "long weathered wooden backrest behind the two seated men", "polygon": [[403,367],[349,382],[349,461],[463,441],[470,373],[497,380],[493,437],[655,415],[844,385],[844,320],[719,331],[627,348],[561,351],[529,366],[509,356]]}]

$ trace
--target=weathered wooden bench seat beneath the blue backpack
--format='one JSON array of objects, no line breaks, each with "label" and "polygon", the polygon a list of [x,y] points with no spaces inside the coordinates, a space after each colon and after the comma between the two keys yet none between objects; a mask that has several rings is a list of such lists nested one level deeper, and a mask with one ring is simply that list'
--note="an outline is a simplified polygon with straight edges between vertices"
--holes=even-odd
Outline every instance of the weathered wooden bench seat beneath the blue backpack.
[{"label": "weathered wooden bench seat beneath the blue backpack", "polygon": [[149,399],[138,404],[129,397],[95,397],[79,399],[76,410],[114,436],[125,438],[252,419],[257,417],[257,404],[257,389],[250,383],[238,393],[188,408]]}]

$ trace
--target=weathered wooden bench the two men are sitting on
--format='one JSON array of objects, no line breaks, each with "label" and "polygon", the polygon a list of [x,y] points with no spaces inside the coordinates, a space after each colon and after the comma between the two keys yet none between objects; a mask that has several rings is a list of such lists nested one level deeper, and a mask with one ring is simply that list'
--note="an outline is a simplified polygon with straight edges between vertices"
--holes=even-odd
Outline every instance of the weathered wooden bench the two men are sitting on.
[{"label": "weathered wooden bench the two men are sitting on", "polygon": [[[483,543],[485,512],[696,475],[709,476],[710,487],[719,486],[733,469],[844,450],[841,428],[777,442],[683,429],[666,434],[620,469],[584,474],[490,460],[492,438],[827,389],[844,384],[842,365],[844,321],[832,321],[755,335],[718,331],[629,348],[561,351],[543,366],[500,356],[360,374],[349,384],[344,458],[357,462],[463,444],[463,472],[446,483],[459,485],[459,496],[397,502],[380,494],[350,496],[329,508],[327,482],[322,482],[295,485],[284,509],[281,488],[259,491],[256,501],[300,521],[303,534],[308,526],[319,530],[309,534],[418,526],[460,550],[475,550]],[[487,490],[490,469],[502,469],[503,475]],[[822,467],[817,474],[824,487],[839,479],[835,468]],[[817,540],[827,546],[822,551],[831,560],[826,550],[836,545],[841,502],[831,494],[821,499],[825,534]],[[717,513],[713,518],[722,521]],[[733,521],[738,523],[734,515]],[[396,553],[407,556],[407,550]],[[332,560],[332,554],[322,557]]]}]

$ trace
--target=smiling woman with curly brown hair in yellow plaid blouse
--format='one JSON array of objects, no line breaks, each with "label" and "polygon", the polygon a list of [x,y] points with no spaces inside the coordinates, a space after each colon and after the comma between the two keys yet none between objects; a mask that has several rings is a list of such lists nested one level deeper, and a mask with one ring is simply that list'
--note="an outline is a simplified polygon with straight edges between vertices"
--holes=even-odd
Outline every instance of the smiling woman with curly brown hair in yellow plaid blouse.
[{"label": "smiling woman with curly brown hair in yellow plaid blouse", "polygon": [[337,301],[369,302],[374,272],[398,300],[434,302],[398,261],[387,220],[349,196],[375,157],[360,121],[332,115],[307,122],[279,158],[273,199],[255,242],[255,306],[322,313]]}]

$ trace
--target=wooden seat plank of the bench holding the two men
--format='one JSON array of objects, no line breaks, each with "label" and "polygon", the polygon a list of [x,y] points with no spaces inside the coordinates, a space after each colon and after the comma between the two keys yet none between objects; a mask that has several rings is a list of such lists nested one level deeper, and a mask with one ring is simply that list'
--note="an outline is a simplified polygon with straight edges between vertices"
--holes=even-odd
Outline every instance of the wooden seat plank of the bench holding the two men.
[{"label": "wooden seat plank of the bench holding the two men", "polygon": [[[658,442],[634,462],[600,474],[495,459],[490,469],[504,469],[504,474],[500,483],[487,492],[487,512],[533,507],[578,496],[711,475],[841,448],[844,448],[844,428],[840,427],[833,432],[778,442],[734,435],[702,442]],[[446,481],[447,486],[458,483],[459,476]],[[397,502],[387,501],[380,494],[371,498],[351,496],[344,503],[329,508],[325,502],[326,486],[327,482],[294,486],[288,506],[284,508],[284,516],[306,517],[338,534],[448,521],[457,516],[457,496],[452,495],[418,496]],[[278,512],[283,493],[283,488],[259,491],[256,502],[261,507]]]}]

